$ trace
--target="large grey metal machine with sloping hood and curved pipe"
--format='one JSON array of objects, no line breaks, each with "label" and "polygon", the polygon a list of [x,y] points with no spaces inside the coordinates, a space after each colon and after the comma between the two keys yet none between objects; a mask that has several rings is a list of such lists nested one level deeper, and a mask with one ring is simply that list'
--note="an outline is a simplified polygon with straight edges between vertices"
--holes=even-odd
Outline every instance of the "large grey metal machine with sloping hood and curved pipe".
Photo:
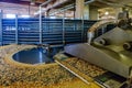
[{"label": "large grey metal machine with sloping hood and curved pipe", "polygon": [[[117,28],[92,40],[89,31],[89,43],[65,46],[65,52],[91,64],[108,69],[122,77],[132,79],[132,26],[128,12],[118,16]],[[102,22],[102,25],[106,22]],[[110,22],[109,22],[110,23]],[[91,41],[92,40],[92,41]]]}]

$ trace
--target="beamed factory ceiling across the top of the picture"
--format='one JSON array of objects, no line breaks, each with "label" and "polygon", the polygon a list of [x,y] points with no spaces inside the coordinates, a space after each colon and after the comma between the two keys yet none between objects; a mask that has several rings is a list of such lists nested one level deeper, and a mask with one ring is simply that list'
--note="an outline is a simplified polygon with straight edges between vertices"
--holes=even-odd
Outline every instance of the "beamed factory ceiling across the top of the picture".
[{"label": "beamed factory ceiling across the top of the picture", "polygon": [[[38,6],[50,1],[43,7],[44,10],[58,10],[64,7],[74,4],[76,0],[0,0],[0,9],[3,13],[15,13],[15,14],[29,14],[35,15],[38,11]],[[91,7],[101,9],[100,12],[111,10],[108,8],[132,8],[132,0],[85,0],[85,2],[92,1],[89,3]],[[70,13],[75,9],[70,9],[67,12]],[[111,12],[114,12],[111,10]]]}]

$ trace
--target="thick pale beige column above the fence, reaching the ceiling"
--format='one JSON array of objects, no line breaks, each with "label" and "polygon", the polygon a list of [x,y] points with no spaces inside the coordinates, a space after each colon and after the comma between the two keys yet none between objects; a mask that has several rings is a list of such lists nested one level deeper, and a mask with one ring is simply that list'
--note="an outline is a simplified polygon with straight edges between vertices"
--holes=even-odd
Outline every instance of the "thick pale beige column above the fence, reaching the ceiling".
[{"label": "thick pale beige column above the fence, reaching the ceiling", "polygon": [[76,19],[82,19],[85,0],[76,0]]}]

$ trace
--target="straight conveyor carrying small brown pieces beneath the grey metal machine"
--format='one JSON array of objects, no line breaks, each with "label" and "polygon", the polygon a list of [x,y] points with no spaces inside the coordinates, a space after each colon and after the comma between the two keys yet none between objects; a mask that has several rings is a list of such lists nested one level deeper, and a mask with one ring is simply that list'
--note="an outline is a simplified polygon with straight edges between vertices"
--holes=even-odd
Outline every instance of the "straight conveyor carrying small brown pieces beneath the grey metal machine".
[{"label": "straight conveyor carrying small brown pieces beneath the grey metal machine", "polygon": [[120,88],[127,79],[98,66],[65,54],[55,55],[55,62],[95,88]]}]

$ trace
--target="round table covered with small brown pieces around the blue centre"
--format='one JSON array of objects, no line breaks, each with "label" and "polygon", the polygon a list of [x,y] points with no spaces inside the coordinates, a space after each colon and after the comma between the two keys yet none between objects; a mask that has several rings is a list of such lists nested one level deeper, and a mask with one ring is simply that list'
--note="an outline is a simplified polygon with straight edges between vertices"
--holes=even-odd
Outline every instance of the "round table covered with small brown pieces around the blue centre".
[{"label": "round table covered with small brown pieces around the blue centre", "polygon": [[28,65],[14,62],[12,55],[34,45],[7,45],[0,47],[0,88],[101,88],[81,81],[72,73],[53,64]]}]

